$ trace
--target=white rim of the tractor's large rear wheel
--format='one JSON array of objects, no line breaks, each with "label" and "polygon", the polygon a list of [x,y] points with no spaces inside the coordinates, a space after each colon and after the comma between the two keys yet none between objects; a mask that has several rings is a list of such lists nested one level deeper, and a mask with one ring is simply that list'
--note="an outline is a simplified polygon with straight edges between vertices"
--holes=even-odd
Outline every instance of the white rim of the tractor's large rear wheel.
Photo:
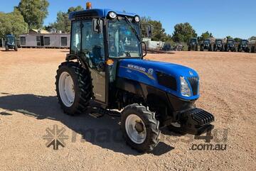
[{"label": "white rim of the tractor's large rear wheel", "polygon": [[60,99],[65,106],[70,107],[75,100],[75,89],[72,77],[68,72],[63,72],[60,75],[58,82],[58,89],[60,93]]}]

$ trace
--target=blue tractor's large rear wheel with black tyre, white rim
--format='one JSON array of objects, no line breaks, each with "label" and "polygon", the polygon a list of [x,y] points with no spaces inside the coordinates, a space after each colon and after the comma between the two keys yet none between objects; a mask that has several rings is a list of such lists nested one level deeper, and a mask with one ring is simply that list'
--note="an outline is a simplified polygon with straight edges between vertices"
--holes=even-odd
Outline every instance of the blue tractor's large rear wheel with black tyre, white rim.
[{"label": "blue tractor's large rear wheel with black tyre, white rim", "polygon": [[92,99],[90,72],[78,62],[63,62],[57,70],[56,92],[65,114],[78,115],[89,106]]}]

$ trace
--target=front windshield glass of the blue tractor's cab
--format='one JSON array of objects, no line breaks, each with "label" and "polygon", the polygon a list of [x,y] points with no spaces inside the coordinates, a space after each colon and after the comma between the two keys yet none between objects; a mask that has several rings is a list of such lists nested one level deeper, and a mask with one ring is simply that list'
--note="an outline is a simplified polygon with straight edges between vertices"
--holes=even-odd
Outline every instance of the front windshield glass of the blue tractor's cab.
[{"label": "front windshield glass of the blue tractor's cab", "polygon": [[[139,24],[132,23],[139,34]],[[110,57],[141,57],[140,40],[132,26],[124,18],[109,21]]]}]

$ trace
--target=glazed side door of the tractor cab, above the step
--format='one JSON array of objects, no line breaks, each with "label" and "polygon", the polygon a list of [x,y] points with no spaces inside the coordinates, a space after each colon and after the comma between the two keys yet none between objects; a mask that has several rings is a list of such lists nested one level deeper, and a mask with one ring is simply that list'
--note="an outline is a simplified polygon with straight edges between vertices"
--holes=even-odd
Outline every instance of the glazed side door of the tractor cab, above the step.
[{"label": "glazed side door of the tractor cab, above the step", "polygon": [[96,101],[106,103],[106,71],[103,33],[92,30],[92,20],[81,21],[80,55],[90,68]]}]

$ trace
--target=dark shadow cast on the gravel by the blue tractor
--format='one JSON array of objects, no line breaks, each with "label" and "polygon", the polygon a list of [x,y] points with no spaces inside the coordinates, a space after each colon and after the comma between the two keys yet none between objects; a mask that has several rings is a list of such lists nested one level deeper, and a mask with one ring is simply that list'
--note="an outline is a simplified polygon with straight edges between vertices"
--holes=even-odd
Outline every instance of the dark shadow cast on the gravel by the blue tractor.
[{"label": "dark shadow cast on the gravel by the blue tractor", "polygon": [[[65,115],[60,109],[56,96],[36,96],[33,94],[13,95],[8,93],[0,94],[4,95],[0,96],[0,108],[6,110],[1,112],[1,115],[3,116],[11,115],[8,111],[17,111],[21,114],[32,116],[39,120],[48,118],[60,121],[65,124],[65,126],[73,130],[72,135],[70,135],[71,142],[73,143],[78,140],[76,133],[80,133],[82,135],[81,141],[85,140],[118,153],[139,155],[135,150],[129,148],[122,139],[119,118],[117,117],[103,116],[101,118],[93,118],[88,114],[81,116]],[[53,126],[48,125],[48,127],[51,128]],[[162,155],[173,149],[173,147],[161,142],[153,150],[152,154]]]}]

